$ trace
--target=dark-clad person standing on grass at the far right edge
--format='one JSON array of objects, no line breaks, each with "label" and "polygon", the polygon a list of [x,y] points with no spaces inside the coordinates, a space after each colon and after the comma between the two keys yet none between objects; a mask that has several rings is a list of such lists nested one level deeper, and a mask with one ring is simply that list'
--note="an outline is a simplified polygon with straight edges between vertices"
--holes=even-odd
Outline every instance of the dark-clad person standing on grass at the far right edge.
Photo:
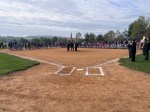
[{"label": "dark-clad person standing on grass at the far right edge", "polygon": [[149,50],[150,50],[150,40],[148,37],[146,37],[145,42],[144,42],[144,54],[145,54],[145,60],[146,61],[149,58]]}]

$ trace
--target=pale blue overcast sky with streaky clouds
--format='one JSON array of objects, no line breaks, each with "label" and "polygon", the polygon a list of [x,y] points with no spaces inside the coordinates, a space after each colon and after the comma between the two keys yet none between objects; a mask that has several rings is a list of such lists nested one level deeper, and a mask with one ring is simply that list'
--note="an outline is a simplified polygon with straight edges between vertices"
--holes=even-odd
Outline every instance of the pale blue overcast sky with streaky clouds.
[{"label": "pale blue overcast sky with streaky clouds", "polygon": [[105,34],[150,15],[150,0],[1,0],[0,35]]}]

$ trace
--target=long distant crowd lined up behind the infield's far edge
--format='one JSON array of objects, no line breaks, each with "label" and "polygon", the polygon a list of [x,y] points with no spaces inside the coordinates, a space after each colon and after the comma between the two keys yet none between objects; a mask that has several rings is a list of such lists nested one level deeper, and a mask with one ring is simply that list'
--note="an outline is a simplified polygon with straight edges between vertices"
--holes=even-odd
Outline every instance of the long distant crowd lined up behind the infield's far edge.
[{"label": "long distant crowd lined up behind the infield's far edge", "polygon": [[[52,43],[19,43],[19,42],[9,42],[8,44],[0,43],[0,48],[9,48],[10,50],[30,50],[30,49],[41,49],[41,48],[73,48],[72,46],[77,45],[79,48],[107,48],[107,49],[126,49],[128,47],[128,41],[113,41],[113,42],[52,42]],[[141,48],[141,43],[136,42],[137,49]],[[72,49],[73,50],[73,49]]]}]

